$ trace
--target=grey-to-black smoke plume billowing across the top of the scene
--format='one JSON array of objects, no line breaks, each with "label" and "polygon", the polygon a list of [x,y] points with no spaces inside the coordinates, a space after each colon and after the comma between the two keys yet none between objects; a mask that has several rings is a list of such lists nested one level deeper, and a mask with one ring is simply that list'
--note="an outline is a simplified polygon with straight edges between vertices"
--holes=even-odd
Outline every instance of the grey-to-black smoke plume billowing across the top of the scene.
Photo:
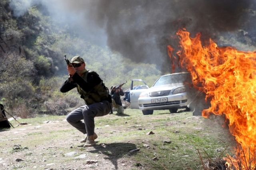
[{"label": "grey-to-black smoke plume billowing across the top of the scene", "polygon": [[[253,0],[31,0],[42,3],[62,24],[82,38],[107,45],[134,62],[157,64],[170,70],[166,46],[180,28],[205,38],[255,45],[256,12]],[[24,9],[24,8],[20,8]],[[17,12],[18,14],[22,14]],[[242,32],[242,33],[241,33]]]}]

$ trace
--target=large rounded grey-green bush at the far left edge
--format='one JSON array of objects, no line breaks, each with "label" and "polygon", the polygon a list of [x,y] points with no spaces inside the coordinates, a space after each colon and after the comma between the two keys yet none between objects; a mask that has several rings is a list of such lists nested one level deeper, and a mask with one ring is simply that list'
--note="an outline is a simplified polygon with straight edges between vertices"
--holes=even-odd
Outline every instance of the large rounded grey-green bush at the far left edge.
[{"label": "large rounded grey-green bush at the far left edge", "polygon": [[34,96],[34,86],[30,81],[34,76],[32,62],[20,56],[6,56],[2,60],[0,73],[0,94],[10,108],[14,107],[17,98],[29,99]]}]

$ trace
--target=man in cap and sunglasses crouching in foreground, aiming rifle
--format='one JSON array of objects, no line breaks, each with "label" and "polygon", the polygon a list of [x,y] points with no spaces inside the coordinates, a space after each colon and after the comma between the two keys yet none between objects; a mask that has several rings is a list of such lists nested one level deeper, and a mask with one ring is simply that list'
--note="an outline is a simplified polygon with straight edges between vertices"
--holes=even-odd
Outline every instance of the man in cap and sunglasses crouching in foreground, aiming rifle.
[{"label": "man in cap and sunglasses crouching in foreground, aiming rifle", "polygon": [[86,70],[86,64],[80,56],[74,56],[70,63],[72,66],[67,66],[67,70],[71,81],[66,80],[60,91],[65,93],[77,88],[85,105],[70,112],[66,120],[86,134],[80,141],[85,142],[84,147],[94,146],[94,140],[98,138],[94,132],[94,117],[107,115],[112,110],[112,99],[100,76],[94,71]]}]

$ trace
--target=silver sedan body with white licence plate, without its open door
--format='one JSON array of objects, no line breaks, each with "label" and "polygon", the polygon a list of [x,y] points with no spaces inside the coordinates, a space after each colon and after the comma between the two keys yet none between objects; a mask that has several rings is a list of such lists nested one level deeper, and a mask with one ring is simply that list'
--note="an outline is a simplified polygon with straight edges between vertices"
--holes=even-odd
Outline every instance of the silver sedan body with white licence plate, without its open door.
[{"label": "silver sedan body with white licence plate, without its open door", "polygon": [[144,115],[154,110],[166,110],[175,113],[179,108],[188,108],[188,97],[184,82],[189,82],[188,72],[160,76],[151,88],[140,94],[138,104]]}]

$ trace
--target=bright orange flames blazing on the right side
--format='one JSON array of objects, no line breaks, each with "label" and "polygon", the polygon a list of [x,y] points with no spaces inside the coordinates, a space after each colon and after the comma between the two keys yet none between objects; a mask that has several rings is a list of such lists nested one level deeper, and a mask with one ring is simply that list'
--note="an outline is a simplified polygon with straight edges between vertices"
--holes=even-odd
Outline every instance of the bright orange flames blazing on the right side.
[{"label": "bright orange flames blazing on the right side", "polygon": [[[236,159],[226,158],[235,167],[248,170],[256,164],[256,51],[238,51],[234,47],[218,47],[210,39],[203,46],[201,34],[195,38],[190,33],[179,30],[180,48],[176,54],[182,67],[192,75],[195,88],[206,94],[210,108],[202,111],[202,116],[210,113],[225,114],[229,128],[239,144]],[[168,46],[168,53],[174,58],[173,49]],[[249,148],[249,149],[248,149]],[[242,165],[238,165],[238,159]],[[252,162],[253,161],[253,162]]]}]

